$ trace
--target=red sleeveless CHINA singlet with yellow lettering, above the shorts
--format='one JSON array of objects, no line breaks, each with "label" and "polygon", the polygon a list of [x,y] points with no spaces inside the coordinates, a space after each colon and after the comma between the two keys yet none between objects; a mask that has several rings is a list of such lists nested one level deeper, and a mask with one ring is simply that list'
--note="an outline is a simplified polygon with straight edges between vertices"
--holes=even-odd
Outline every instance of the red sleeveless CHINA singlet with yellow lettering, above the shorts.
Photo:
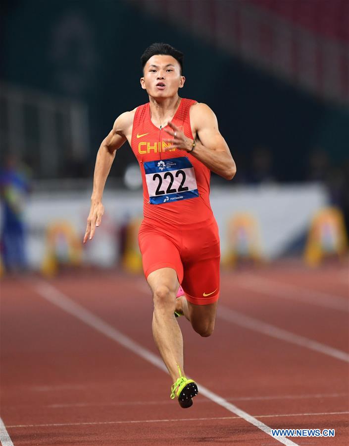
[{"label": "red sleeveless CHINA singlet with yellow lettering, above the shorts", "polygon": [[[193,139],[193,134],[189,110],[195,103],[196,101],[191,99],[182,99],[172,119],[172,123],[191,139]],[[172,130],[170,127],[165,128]],[[163,142],[163,139],[170,138],[170,135],[164,131],[164,127],[159,129],[151,122],[149,103],[137,108],[133,121],[131,147],[142,173],[144,217],[162,222],[163,224],[173,224],[178,219],[181,220],[181,223],[188,224],[204,221],[212,215],[209,203],[210,170],[185,150],[178,150],[175,147],[168,149],[169,145]],[[186,158],[186,160],[182,160],[184,164],[179,163],[176,165],[172,163],[170,166],[163,165],[168,164],[168,160],[177,160],[178,158]],[[153,169],[151,168],[152,166],[147,164],[151,161],[156,162]],[[159,162],[160,165],[157,166]],[[191,172],[190,166],[192,166],[194,172]],[[146,174],[145,168],[148,168],[147,171],[150,173]],[[177,174],[178,170],[183,170],[185,175]],[[167,172],[169,173],[164,178]],[[160,177],[156,176],[156,173]],[[191,173],[193,175],[189,178]],[[154,175],[155,178],[153,179]],[[191,190],[193,181],[189,180],[195,180],[199,196],[196,196],[194,193],[181,193]],[[188,188],[188,191],[181,191],[186,188]],[[152,196],[156,197],[156,199],[150,200],[150,195],[153,193],[154,195]],[[184,197],[180,198],[183,195]],[[162,196],[163,199],[161,200]],[[166,197],[168,197],[168,200],[166,200]],[[157,204],[152,204],[156,201],[158,201]]]}]

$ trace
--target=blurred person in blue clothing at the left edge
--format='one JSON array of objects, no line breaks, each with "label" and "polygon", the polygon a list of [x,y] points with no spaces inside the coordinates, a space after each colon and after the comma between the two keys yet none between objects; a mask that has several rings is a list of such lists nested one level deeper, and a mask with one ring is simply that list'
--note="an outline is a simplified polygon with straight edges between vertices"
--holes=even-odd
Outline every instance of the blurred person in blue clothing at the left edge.
[{"label": "blurred person in blue clothing at the left edge", "polygon": [[7,155],[0,169],[1,257],[6,271],[27,267],[24,204],[30,191],[29,172],[15,155]]}]

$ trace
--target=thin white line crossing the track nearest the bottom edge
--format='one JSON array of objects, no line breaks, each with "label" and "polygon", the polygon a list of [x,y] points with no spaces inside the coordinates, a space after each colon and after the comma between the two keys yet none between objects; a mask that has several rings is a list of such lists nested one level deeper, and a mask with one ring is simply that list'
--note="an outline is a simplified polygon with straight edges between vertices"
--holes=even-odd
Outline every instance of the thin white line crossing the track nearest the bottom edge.
[{"label": "thin white line crossing the track nearest the bottom edge", "polygon": [[[316,412],[316,413],[288,413],[288,414],[271,414],[271,415],[254,415],[255,418],[282,418],[282,417],[303,417],[303,416],[317,416],[317,415],[346,415],[349,412]],[[133,423],[170,423],[178,421],[209,421],[209,420],[238,420],[241,417],[211,417],[211,418],[172,418],[162,420],[127,420],[127,421],[91,421],[80,423],[51,423],[51,424],[14,424],[8,426],[14,428],[36,428],[49,426],[86,426],[99,424],[133,424]],[[274,438],[274,437],[273,437]]]}]

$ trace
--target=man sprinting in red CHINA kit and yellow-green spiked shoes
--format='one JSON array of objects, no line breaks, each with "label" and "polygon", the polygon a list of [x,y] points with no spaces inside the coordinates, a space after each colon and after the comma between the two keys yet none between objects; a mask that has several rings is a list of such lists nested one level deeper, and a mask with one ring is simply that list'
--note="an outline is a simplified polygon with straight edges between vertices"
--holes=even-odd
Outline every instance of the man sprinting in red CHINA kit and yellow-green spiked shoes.
[{"label": "man sprinting in red CHINA kit and yellow-green spiked shoes", "polygon": [[[141,86],[149,102],[122,113],[97,154],[84,243],[103,215],[102,194],[111,164],[127,140],[139,162],[144,220],[139,231],[143,268],[153,294],[152,333],[173,384],[171,398],[190,407],[198,393],[183,367],[184,315],[201,336],[213,332],[219,297],[219,235],[209,202],[210,171],[236,173],[217,119],[205,104],[178,96],[183,53],[154,43],[141,57]],[[177,292],[182,285],[184,293]]]}]

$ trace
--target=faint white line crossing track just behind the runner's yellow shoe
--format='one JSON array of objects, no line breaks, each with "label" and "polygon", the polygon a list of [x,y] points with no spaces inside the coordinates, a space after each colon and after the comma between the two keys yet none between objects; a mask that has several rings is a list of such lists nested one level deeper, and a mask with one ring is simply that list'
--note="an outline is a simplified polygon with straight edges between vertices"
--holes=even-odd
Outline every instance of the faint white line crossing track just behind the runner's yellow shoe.
[{"label": "faint white line crossing track just behind the runner's yellow shoe", "polygon": [[[285,399],[312,399],[312,398],[348,398],[348,393],[318,393],[310,395],[275,395],[275,396],[240,396],[236,398],[225,398],[227,401],[270,401],[270,400],[285,400]],[[207,399],[200,397],[195,398],[195,404],[206,403]],[[96,402],[80,402],[80,403],[61,403],[61,404],[47,404],[43,407],[50,407],[50,409],[61,409],[64,407],[91,407],[91,406],[147,406],[147,405],[170,405],[172,401],[109,401],[103,403]],[[18,406],[16,406],[18,407]]]}]

